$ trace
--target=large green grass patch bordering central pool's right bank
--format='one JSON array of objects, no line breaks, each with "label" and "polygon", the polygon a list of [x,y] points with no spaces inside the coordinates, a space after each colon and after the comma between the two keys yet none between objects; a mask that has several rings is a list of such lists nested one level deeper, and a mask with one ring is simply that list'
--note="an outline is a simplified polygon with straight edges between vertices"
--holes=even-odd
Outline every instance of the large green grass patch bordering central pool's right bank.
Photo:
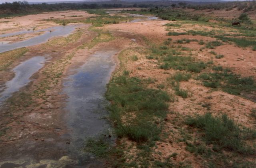
[{"label": "large green grass patch bordering central pool's right bank", "polygon": [[[144,143],[153,140],[161,129],[154,122],[166,117],[170,96],[158,89],[147,89],[145,81],[128,75],[114,77],[106,97],[112,102],[108,107],[110,118],[116,123],[118,137]],[[133,114],[134,117],[124,116]],[[121,119],[122,118],[122,119]]]}]

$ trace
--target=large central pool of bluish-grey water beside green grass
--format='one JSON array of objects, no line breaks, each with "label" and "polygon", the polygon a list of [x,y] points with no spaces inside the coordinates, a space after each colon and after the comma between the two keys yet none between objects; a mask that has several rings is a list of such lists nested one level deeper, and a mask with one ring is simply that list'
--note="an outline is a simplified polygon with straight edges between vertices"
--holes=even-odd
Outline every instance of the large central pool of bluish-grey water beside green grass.
[{"label": "large central pool of bluish-grey water beside green grass", "polygon": [[[108,137],[110,125],[104,119],[108,115],[104,93],[114,71],[112,56],[116,53],[114,50],[97,51],[86,59],[84,65],[70,71],[73,75],[63,83],[64,93],[69,97],[66,99],[66,119],[72,136],[70,150],[76,155],[81,155],[78,150],[90,137],[107,134],[106,140],[112,141],[113,137]],[[83,159],[89,162],[92,158],[85,155]]]}]

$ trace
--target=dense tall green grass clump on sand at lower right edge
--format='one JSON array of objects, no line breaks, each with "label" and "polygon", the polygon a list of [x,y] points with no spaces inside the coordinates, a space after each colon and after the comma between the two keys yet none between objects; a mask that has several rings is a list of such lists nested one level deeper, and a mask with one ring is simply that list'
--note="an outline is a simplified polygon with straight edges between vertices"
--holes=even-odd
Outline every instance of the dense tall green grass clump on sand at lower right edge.
[{"label": "dense tall green grass clump on sand at lower right edge", "polygon": [[[226,149],[245,155],[256,152],[244,141],[248,136],[248,131],[241,129],[225,114],[220,117],[214,117],[210,113],[189,117],[186,124],[199,128],[204,133],[202,139],[206,144],[214,145],[213,150]],[[251,130],[249,134],[252,138],[256,138],[255,130]]]}]

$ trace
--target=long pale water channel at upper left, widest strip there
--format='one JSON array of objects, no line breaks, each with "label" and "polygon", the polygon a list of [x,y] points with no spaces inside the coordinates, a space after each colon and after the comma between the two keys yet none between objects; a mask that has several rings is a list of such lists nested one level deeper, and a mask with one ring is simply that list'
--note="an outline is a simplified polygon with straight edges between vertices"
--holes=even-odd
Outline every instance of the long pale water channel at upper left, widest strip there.
[{"label": "long pale water channel at upper left, widest strip there", "polygon": [[47,28],[41,31],[45,31],[44,34],[36,36],[34,38],[30,38],[28,40],[24,40],[16,43],[0,43],[0,53],[4,51],[10,51],[12,49],[27,47],[30,45],[37,45],[43,42],[47,42],[48,39],[55,36],[66,36],[73,32],[77,25],[68,25],[68,26],[55,26],[52,28]]}]

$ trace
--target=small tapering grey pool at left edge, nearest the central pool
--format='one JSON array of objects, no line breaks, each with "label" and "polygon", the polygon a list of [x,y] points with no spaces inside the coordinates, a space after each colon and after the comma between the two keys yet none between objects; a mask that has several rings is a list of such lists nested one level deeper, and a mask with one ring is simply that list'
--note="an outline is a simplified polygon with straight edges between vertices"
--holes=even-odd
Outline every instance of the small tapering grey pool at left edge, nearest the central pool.
[{"label": "small tapering grey pool at left edge, nearest the central pool", "polygon": [[30,77],[43,67],[45,61],[46,59],[44,57],[36,56],[16,66],[13,69],[15,72],[15,77],[6,82],[6,89],[0,93],[0,105],[6,101],[6,99],[12,95],[12,93],[27,85],[31,81]]}]

